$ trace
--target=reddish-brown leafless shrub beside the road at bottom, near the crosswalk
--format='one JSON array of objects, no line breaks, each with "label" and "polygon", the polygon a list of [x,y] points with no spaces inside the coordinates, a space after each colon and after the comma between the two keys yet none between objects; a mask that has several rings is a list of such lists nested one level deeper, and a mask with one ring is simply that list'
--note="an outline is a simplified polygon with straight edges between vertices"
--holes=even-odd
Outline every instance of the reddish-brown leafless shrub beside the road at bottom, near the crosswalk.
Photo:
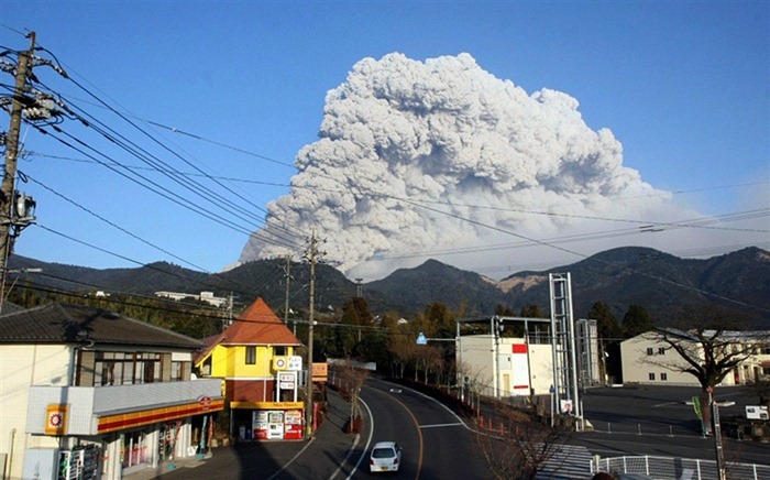
[{"label": "reddish-brown leafless shrub beside the road at bottom, near the crosswalk", "polygon": [[[497,479],[534,479],[554,465],[571,438],[562,423],[551,426],[531,412],[497,404],[490,426],[480,425],[479,446]],[[557,462],[558,463],[558,462]]]}]

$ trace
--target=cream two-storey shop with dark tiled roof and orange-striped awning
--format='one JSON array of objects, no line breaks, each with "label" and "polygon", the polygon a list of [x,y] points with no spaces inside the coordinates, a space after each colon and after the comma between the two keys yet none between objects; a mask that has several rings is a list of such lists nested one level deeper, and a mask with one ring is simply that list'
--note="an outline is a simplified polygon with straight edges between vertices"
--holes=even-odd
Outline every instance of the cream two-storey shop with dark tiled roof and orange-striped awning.
[{"label": "cream two-storey shop with dark tiled roof and orange-striped awning", "polygon": [[3,478],[120,479],[196,455],[194,423],[224,404],[221,381],[191,379],[201,347],[100,308],[0,316]]}]

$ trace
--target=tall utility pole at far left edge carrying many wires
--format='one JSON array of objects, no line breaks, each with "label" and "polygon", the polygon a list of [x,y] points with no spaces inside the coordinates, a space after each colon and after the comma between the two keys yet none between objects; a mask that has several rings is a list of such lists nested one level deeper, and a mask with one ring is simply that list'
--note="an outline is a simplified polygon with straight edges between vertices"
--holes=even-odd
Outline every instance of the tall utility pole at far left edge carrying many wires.
[{"label": "tall utility pole at far left edge carrying many wires", "polygon": [[0,276],[2,277],[0,280],[0,305],[4,302],[3,292],[6,290],[6,276],[8,273],[8,259],[11,257],[11,250],[13,249],[12,233],[14,229],[14,219],[16,217],[14,211],[14,204],[16,203],[14,183],[16,177],[16,160],[19,156],[19,132],[21,131],[22,111],[25,107],[24,100],[26,100],[24,95],[26,79],[32,75],[35,33],[30,33],[29,37],[30,50],[29,52],[20,52],[19,62],[16,63],[15,86],[11,102],[11,124],[6,138],[6,168],[2,176],[2,186],[0,187],[0,261],[2,262],[2,272],[0,272]]}]

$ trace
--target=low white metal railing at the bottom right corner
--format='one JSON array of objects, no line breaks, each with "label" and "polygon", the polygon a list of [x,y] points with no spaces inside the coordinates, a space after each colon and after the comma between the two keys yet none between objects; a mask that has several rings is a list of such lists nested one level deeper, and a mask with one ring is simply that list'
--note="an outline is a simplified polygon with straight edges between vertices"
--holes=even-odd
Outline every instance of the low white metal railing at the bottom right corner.
[{"label": "low white metal railing at the bottom right corner", "polygon": [[[656,480],[718,480],[714,460],[672,457],[614,457],[592,463],[592,473],[641,473]],[[732,480],[770,479],[770,466],[756,463],[725,463],[726,477]]]}]

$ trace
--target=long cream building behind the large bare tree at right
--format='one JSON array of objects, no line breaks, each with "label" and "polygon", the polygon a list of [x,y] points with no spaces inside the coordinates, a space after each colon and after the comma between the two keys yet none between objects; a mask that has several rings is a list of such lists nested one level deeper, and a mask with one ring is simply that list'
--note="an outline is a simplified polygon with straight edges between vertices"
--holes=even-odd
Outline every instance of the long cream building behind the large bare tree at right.
[{"label": "long cream building behind the large bare tree at right", "polygon": [[[736,349],[756,348],[754,354],[725,377],[722,385],[743,385],[770,377],[770,345],[767,340],[770,332],[727,331],[724,335],[735,342]],[[694,339],[690,347],[693,352],[702,351]],[[620,357],[624,384],[700,386],[694,375],[682,371],[689,367],[685,360],[651,332],[620,342]]]}]

